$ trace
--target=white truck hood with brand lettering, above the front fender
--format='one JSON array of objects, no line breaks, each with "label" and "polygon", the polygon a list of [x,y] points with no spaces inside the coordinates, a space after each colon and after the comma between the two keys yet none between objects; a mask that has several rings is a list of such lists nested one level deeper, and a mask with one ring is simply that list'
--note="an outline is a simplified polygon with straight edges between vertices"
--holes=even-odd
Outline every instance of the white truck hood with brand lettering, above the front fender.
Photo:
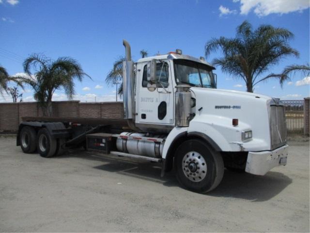
[{"label": "white truck hood with brand lettering, above the front fender", "polygon": [[[191,123],[207,122],[213,128],[222,129],[226,137],[228,129],[232,132],[251,130],[253,138],[264,141],[268,150],[269,114],[268,108],[272,98],[255,93],[221,90],[201,87],[190,88],[192,97],[196,100],[195,117]],[[232,119],[238,119],[236,127]],[[228,140],[229,141],[229,140]],[[233,138],[229,143],[233,142]]]}]

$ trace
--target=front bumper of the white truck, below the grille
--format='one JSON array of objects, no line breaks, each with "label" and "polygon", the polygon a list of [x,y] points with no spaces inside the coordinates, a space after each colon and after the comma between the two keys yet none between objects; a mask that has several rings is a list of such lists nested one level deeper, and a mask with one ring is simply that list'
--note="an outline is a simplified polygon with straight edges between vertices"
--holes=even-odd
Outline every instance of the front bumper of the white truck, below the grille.
[{"label": "front bumper of the white truck, below the grille", "polygon": [[288,145],[284,145],[271,151],[249,151],[246,172],[263,176],[275,166],[286,165],[288,147]]}]

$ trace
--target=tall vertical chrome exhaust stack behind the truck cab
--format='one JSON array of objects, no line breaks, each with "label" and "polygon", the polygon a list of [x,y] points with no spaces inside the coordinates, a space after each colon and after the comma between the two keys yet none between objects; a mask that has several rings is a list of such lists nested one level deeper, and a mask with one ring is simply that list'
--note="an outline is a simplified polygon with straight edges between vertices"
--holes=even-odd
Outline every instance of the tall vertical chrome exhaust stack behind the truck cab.
[{"label": "tall vertical chrome exhaust stack behind the truck cab", "polygon": [[139,131],[135,126],[135,98],[134,98],[134,62],[131,60],[130,45],[123,40],[125,47],[126,60],[123,62],[123,100],[124,100],[124,118],[127,119],[128,126]]}]

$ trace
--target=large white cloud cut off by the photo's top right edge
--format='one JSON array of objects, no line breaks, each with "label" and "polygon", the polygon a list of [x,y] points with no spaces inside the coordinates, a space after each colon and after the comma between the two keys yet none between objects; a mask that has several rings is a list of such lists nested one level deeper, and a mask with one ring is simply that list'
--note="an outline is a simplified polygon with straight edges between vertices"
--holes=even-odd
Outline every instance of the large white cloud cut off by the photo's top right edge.
[{"label": "large white cloud cut off by the photo's top right edge", "polygon": [[[233,0],[233,2],[237,2]],[[257,16],[269,14],[287,14],[302,11],[309,7],[309,0],[240,0],[240,14],[248,15],[254,9]]]}]

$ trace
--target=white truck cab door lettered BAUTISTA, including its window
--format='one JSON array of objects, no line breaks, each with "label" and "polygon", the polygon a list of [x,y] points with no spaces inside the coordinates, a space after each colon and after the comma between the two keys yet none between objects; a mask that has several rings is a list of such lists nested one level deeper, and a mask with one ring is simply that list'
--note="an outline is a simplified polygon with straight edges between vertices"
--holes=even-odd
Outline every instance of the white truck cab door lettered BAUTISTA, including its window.
[{"label": "white truck cab door lettered BAUTISTA, including its window", "polygon": [[137,66],[136,123],[174,124],[174,98],[171,63],[169,60],[157,61],[156,88],[148,89],[147,62]]}]

